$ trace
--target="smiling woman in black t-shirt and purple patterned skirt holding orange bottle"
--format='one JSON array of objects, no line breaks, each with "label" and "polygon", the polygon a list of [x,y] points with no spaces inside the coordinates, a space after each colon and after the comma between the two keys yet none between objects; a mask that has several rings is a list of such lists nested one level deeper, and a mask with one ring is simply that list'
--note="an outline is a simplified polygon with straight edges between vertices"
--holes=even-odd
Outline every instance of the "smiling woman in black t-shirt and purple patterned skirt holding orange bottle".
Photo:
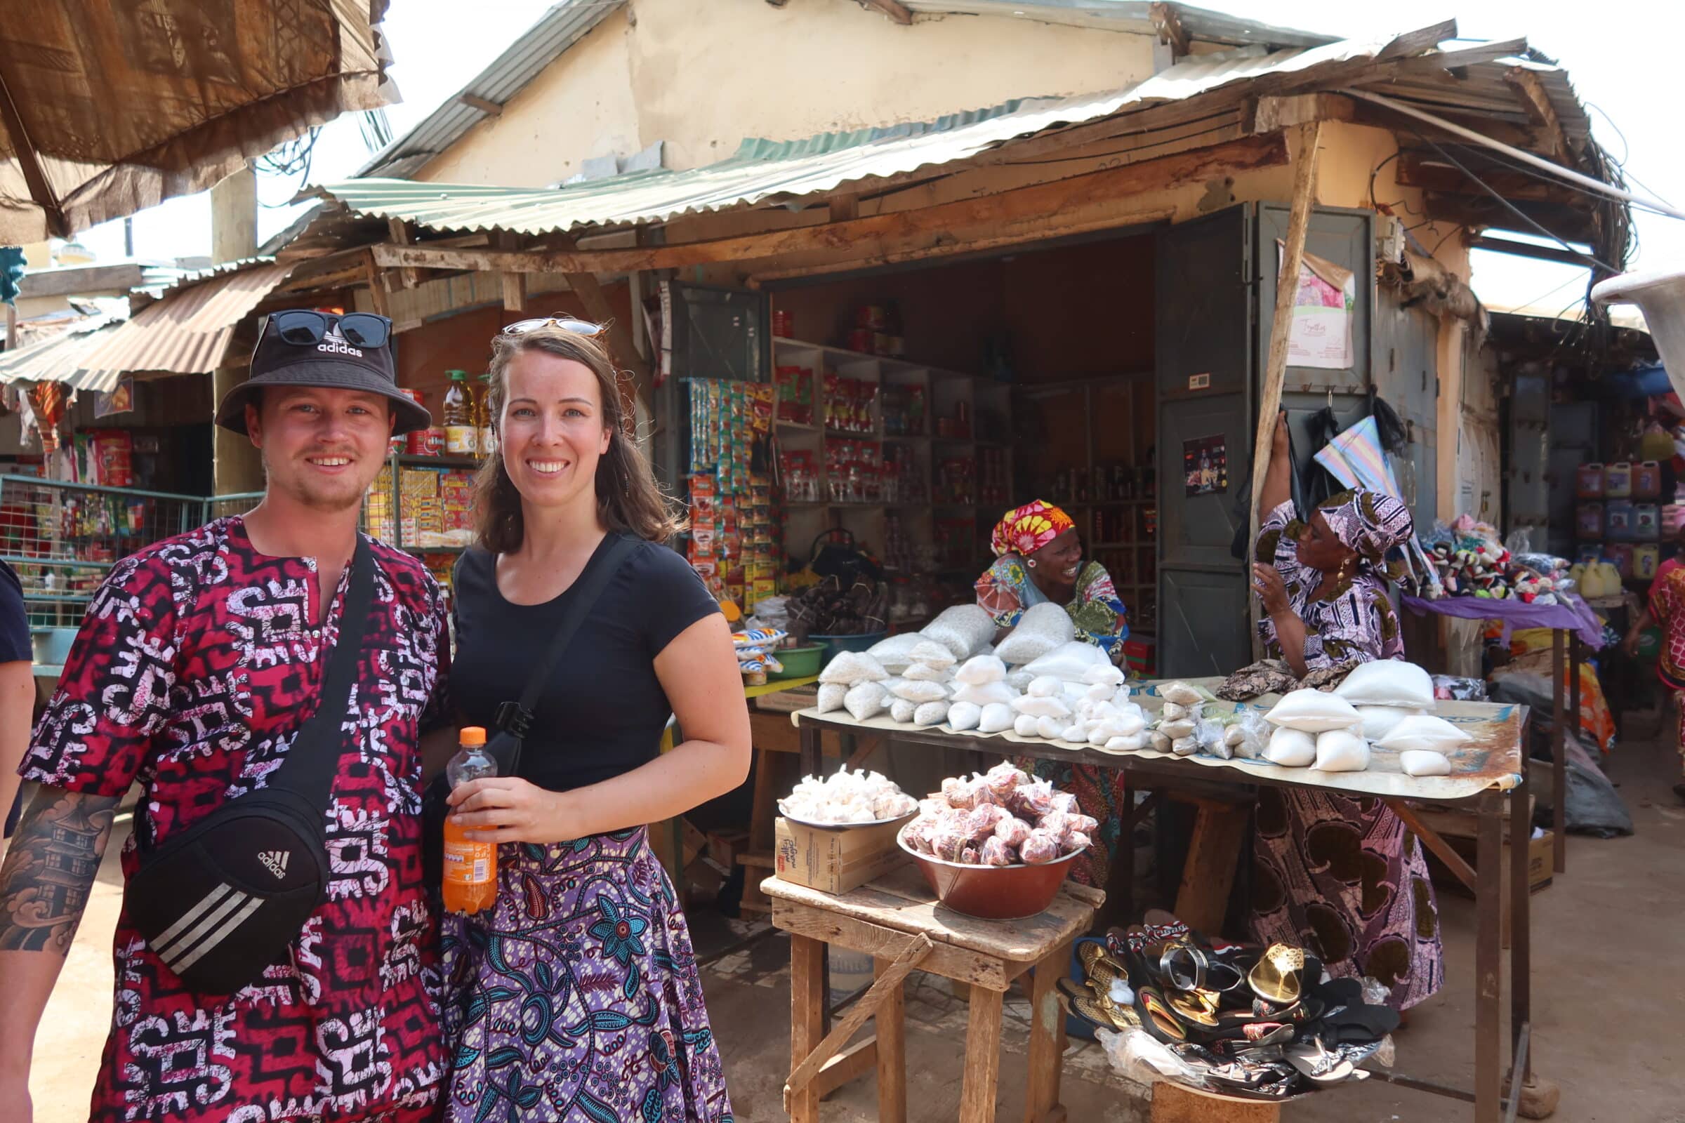
[{"label": "smiling woman in black t-shirt and purple patterned skirt holding orange bottle", "polygon": [[[750,731],[731,635],[630,436],[600,328],[532,320],[494,340],[499,453],[480,546],[455,577],[468,724],[521,694],[612,535],[637,546],[585,608],[516,776],[452,793],[499,844],[497,902],[443,924],[448,1123],[731,1118],[696,953],[645,823],[730,791]],[[667,716],[684,741],[659,753]]]}]

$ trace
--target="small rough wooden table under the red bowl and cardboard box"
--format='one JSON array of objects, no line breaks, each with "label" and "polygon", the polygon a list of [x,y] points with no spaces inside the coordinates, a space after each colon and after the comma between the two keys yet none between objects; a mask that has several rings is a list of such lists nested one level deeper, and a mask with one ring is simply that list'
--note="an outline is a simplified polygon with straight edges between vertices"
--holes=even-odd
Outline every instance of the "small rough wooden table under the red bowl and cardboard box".
[{"label": "small rough wooden table under the red bowl and cardboard box", "polygon": [[[790,1078],[784,1088],[792,1123],[819,1123],[819,1098],[839,1081],[822,1081],[849,1037],[873,1019],[875,1037],[851,1052],[873,1054],[880,1123],[907,1123],[907,1029],[903,982],[913,970],[966,983],[966,1083],[960,1123],[992,1123],[1001,1074],[1001,1003],[1013,980],[1030,973],[1030,1052],[1026,1123],[1058,1123],[1065,1064],[1065,1014],[1055,983],[1070,970],[1072,943],[1089,933],[1105,899],[1097,889],[1067,882],[1053,904],[1018,921],[964,916],[937,902],[917,867],[900,865],[858,889],[834,896],[780,877],[762,889],[772,897],[772,923],[790,933]],[[826,945],[873,956],[876,982],[848,1015],[826,1032]]]}]

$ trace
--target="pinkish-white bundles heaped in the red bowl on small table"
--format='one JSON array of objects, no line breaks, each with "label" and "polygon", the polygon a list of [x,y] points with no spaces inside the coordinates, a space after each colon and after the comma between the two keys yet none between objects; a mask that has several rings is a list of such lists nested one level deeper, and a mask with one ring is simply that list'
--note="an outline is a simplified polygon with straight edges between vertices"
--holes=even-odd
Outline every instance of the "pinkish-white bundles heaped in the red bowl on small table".
[{"label": "pinkish-white bundles heaped in the red bowl on small table", "polygon": [[918,801],[918,818],[901,840],[944,862],[1043,865],[1085,850],[1100,823],[1077,808],[1077,796],[1031,780],[1009,761],[987,773],[942,781],[940,795]]}]

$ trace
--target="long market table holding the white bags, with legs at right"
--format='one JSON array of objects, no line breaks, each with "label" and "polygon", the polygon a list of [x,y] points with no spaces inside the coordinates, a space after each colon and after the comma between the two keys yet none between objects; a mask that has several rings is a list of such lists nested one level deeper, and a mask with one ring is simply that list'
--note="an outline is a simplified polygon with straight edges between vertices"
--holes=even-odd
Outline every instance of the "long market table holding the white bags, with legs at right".
[{"label": "long market table holding the white bags, with legs at right", "polygon": [[[1136,684],[1147,685],[1151,684]],[[1146,707],[1159,705],[1156,697],[1137,697]],[[1260,699],[1257,705],[1269,705]],[[1452,722],[1466,724],[1474,741],[1454,756],[1458,771],[1451,776],[1410,778],[1397,769],[1397,756],[1377,749],[1370,771],[1318,773],[1299,768],[1281,768],[1267,761],[1222,761],[1208,756],[1176,758],[1168,753],[1102,753],[1090,746],[1067,746],[1058,741],[1019,739],[1013,732],[976,734],[954,732],[945,727],[915,729],[900,726],[888,717],[864,722],[848,714],[802,711],[792,716],[802,737],[802,771],[819,774],[822,758],[819,742],[822,732],[878,734],[895,744],[927,749],[969,749],[976,753],[1013,758],[1028,756],[1051,761],[1075,761],[1124,773],[1126,808],[1134,806],[1131,783],[1225,781],[1228,785],[1262,785],[1281,788],[1335,790],[1341,795],[1373,796],[1387,805],[1420,837],[1473,892],[1476,901],[1474,936],[1474,1088],[1451,1088],[1434,1081],[1415,1079],[1395,1071],[1373,1072],[1375,1079],[1415,1088],[1434,1094],[1463,1099],[1474,1104],[1476,1123],[1513,1120],[1518,1098],[1505,1115],[1505,1081],[1516,1089],[1532,1081],[1532,951],[1530,951],[1530,897],[1527,876],[1527,759],[1525,731],[1528,709],[1525,705],[1495,705],[1483,702],[1441,702],[1436,712]],[[1387,759],[1390,769],[1387,771]],[[1420,822],[1412,805],[1429,803],[1473,810],[1478,815],[1476,860],[1468,862],[1451,849],[1434,830]],[[1505,815],[1518,835],[1510,847],[1508,906],[1511,914],[1510,958],[1510,1064],[1503,1064],[1501,997],[1503,997],[1503,896],[1501,876]],[[1122,833],[1129,838],[1127,825]],[[1200,849],[1195,838],[1195,850]],[[1213,850],[1217,847],[1212,847]],[[1227,862],[1233,865],[1233,847],[1227,849]],[[1132,862],[1114,862],[1114,874],[1129,869]],[[1114,879],[1115,881],[1115,879]]]}]

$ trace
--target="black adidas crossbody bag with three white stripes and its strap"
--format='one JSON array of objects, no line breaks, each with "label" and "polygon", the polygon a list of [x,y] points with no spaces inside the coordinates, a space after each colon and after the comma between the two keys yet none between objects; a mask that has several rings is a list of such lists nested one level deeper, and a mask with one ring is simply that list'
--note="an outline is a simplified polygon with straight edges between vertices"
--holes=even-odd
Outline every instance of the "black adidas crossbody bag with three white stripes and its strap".
[{"label": "black adidas crossbody bag with three white stripes and its strap", "polygon": [[248,987],[280,960],[327,896],[327,806],[344,749],[374,554],[357,535],[339,641],[320,704],[263,788],[143,849],[123,907],[163,963],[199,993]]}]

